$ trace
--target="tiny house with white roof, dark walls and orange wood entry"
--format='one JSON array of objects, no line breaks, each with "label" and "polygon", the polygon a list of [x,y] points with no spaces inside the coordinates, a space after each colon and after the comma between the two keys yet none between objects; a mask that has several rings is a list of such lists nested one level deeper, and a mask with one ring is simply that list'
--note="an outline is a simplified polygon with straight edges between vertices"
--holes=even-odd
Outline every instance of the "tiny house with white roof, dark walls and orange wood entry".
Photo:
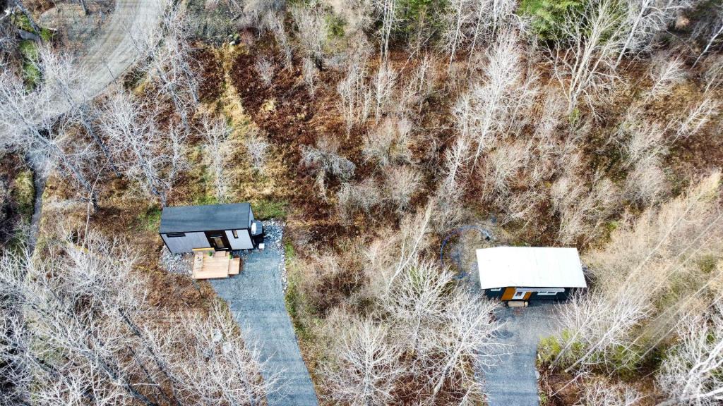
[{"label": "tiny house with white roof, dark walls and orange wood entry", "polygon": [[500,246],[476,250],[479,285],[501,301],[564,301],[587,288],[575,248]]}]

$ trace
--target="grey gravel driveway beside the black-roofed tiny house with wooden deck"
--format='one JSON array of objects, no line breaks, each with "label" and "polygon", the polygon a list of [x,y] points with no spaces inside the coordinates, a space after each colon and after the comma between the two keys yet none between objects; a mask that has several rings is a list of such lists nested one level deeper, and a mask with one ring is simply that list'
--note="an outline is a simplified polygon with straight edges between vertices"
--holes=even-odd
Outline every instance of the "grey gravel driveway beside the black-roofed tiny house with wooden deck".
[{"label": "grey gravel driveway beside the black-roofed tiny house with wooden deck", "polygon": [[265,379],[277,376],[276,389],[268,396],[270,406],[315,406],[317,397],[309,371],[301,359],[291,319],[286,313],[281,288],[284,264],[281,225],[264,222],[264,251],[242,254],[239,275],[212,280],[218,295],[228,302],[244,338],[253,342],[265,361]]}]

